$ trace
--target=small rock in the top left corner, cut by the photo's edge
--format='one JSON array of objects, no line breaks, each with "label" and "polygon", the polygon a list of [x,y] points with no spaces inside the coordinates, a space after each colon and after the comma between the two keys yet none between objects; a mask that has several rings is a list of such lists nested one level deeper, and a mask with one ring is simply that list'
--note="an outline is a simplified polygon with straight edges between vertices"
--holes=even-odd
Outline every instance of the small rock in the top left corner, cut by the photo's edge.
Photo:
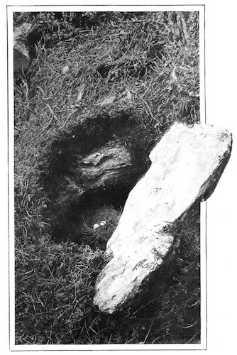
[{"label": "small rock in the top left corner, cut by the photo's edge", "polygon": [[31,23],[23,23],[14,31],[14,72],[26,69],[30,62],[27,37],[32,28]]}]

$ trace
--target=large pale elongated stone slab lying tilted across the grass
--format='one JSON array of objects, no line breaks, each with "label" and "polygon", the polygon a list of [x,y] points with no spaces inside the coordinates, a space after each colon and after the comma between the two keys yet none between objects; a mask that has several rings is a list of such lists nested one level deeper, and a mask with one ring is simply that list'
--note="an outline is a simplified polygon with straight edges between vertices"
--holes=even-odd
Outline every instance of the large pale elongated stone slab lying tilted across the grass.
[{"label": "large pale elongated stone slab lying tilted across the grass", "polygon": [[231,133],[213,126],[174,124],[150,153],[152,165],[128,196],[106,252],[94,305],[120,310],[174,244],[169,232],[189,207],[214,191],[231,153]]}]

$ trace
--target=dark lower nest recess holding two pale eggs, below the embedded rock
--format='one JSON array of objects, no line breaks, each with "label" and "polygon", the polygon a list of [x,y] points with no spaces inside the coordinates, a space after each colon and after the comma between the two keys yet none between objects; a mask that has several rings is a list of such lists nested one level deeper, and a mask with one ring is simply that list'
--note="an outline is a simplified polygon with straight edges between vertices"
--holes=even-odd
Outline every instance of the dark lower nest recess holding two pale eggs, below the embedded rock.
[{"label": "dark lower nest recess holding two pale eggs, below the embedded rock", "polygon": [[[131,187],[116,186],[87,195],[79,204],[71,204],[67,212],[57,218],[57,224],[53,226],[53,238],[105,250],[107,241],[118,225],[130,190]],[[103,221],[106,224],[101,226]],[[99,228],[93,229],[94,224],[99,224]]]}]

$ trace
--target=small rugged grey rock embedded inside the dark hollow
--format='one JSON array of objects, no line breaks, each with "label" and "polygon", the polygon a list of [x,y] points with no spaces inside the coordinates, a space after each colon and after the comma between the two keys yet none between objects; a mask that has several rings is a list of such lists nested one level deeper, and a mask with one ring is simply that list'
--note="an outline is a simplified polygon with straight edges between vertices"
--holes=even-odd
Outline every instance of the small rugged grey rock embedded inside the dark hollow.
[{"label": "small rugged grey rock embedded inside the dark hollow", "polygon": [[65,185],[60,185],[55,198],[55,206],[60,209],[72,199],[79,201],[80,196],[91,190],[105,190],[128,179],[136,169],[131,154],[120,141],[109,141],[89,155],[82,157],[75,154],[75,158],[75,177],[80,176],[82,183],[78,184],[72,177],[63,177]]}]

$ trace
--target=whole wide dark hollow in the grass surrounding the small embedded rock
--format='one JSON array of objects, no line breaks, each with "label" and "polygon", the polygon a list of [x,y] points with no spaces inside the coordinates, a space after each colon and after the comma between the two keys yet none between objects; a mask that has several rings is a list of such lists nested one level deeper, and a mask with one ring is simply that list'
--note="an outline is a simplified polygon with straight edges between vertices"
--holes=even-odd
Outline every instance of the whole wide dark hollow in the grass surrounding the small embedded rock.
[{"label": "whole wide dark hollow in the grass surrounding the small embedded rock", "polygon": [[[91,221],[92,216],[97,217],[97,210],[105,207],[109,207],[112,214],[121,214],[128,193],[150,165],[148,153],[154,137],[149,138],[149,134],[141,126],[136,126],[135,113],[121,110],[114,116],[97,114],[93,119],[85,119],[52,142],[46,158],[47,169],[43,170],[41,181],[50,200],[52,236],[56,241],[75,241],[92,248],[106,248],[114,224],[111,229],[106,226],[106,233],[102,229],[90,230],[93,224],[98,223],[97,218]],[[119,142],[131,156],[131,162],[121,168],[111,164],[108,174],[114,168],[115,171],[118,169],[118,175],[111,175],[111,180],[98,185],[101,172],[98,170],[97,180],[91,174],[93,169],[88,169],[88,176],[83,173],[83,158],[96,153],[97,149],[103,151],[109,141]],[[106,221],[106,216],[102,220]],[[89,229],[84,227],[84,221]]]}]

